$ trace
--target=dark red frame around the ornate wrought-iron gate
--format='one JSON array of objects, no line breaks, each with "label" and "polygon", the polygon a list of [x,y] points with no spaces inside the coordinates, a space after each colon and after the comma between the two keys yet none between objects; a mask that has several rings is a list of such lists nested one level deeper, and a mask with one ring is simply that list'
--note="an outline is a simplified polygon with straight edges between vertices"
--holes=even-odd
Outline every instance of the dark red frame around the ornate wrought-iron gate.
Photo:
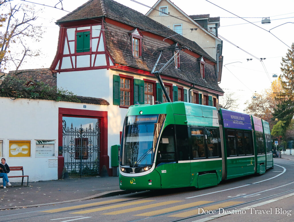
[{"label": "dark red frame around the ornate wrought-iron gate", "polygon": [[[100,128],[100,171],[105,165],[109,176],[112,176],[112,169],[109,168],[108,156],[108,117],[107,111],[79,110],[69,108],[59,108],[58,110],[58,146],[62,146],[62,117],[96,118],[99,119]],[[64,167],[64,157],[58,154],[58,179],[62,178]]]}]

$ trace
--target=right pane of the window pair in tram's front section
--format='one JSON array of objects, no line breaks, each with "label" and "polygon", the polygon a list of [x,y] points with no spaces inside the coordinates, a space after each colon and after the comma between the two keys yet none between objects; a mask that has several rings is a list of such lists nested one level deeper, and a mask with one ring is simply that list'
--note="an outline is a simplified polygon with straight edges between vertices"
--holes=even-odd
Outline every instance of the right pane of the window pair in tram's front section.
[{"label": "right pane of the window pair in tram's front section", "polygon": [[208,157],[218,157],[219,156],[219,147],[220,147],[220,136],[218,129],[207,129],[207,154]]}]

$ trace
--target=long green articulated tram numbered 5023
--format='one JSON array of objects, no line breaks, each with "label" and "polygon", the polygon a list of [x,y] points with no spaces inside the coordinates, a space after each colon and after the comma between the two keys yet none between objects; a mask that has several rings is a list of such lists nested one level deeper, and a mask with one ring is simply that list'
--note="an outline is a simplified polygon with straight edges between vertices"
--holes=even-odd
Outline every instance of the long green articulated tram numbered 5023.
[{"label": "long green articulated tram numbered 5023", "polygon": [[273,167],[267,122],[185,102],[129,107],[119,158],[120,188],[203,188]]}]

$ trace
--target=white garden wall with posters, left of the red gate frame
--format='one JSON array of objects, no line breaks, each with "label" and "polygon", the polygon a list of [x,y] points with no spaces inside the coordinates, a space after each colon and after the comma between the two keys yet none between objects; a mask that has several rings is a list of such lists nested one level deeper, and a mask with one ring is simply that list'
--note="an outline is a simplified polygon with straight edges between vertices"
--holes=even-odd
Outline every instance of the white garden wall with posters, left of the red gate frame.
[{"label": "white garden wall with posters, left of the red gate frame", "polygon": [[[36,158],[35,140],[56,140],[58,150],[58,105],[49,100],[30,100],[0,97],[1,127],[3,139],[3,157],[9,166],[23,166],[29,181],[56,180],[57,167],[48,166],[49,159],[57,157]],[[9,157],[9,140],[31,140],[31,157]],[[10,176],[20,175],[20,171],[11,171]],[[10,178],[11,182],[21,178]]]}]

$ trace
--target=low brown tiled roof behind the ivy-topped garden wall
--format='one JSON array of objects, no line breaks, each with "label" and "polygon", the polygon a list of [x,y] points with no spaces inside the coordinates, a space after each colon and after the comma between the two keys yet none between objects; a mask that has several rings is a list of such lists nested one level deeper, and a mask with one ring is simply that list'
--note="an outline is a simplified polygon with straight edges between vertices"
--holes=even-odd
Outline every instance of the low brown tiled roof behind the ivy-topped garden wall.
[{"label": "low brown tiled roof behind the ivy-topped garden wall", "polygon": [[[52,76],[52,71],[49,68],[45,69],[23,69],[17,71],[9,71],[8,75],[16,75],[26,79],[33,79],[38,82],[44,82],[48,86],[56,86],[57,79]],[[56,74],[54,75],[56,76]]]}]

